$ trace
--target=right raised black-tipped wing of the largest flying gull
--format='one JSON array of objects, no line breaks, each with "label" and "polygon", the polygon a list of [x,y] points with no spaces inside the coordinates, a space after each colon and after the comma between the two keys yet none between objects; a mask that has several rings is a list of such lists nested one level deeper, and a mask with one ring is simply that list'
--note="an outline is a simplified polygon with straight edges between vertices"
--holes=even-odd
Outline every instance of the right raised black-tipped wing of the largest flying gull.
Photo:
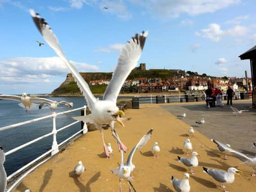
[{"label": "right raised black-tipped wing of the largest flying gull", "polygon": [[123,83],[139,61],[147,36],[148,31],[143,31],[140,35],[135,34],[122,48],[118,57],[117,67],[104,93],[103,100],[117,102],[117,96]]}]

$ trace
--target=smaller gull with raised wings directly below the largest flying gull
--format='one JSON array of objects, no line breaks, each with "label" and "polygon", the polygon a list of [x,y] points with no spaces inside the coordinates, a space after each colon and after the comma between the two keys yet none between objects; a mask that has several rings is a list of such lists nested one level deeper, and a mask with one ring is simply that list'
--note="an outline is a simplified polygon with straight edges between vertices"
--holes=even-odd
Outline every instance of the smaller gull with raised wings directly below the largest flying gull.
[{"label": "smaller gull with raised wings directly below the largest flying gull", "polygon": [[[131,152],[127,158],[126,163],[124,163],[124,153],[123,153],[123,150],[121,150],[121,165],[119,167],[117,167],[117,169],[111,169],[113,174],[116,174],[119,176],[120,192],[122,191],[121,179],[127,179],[129,189],[131,190],[131,187],[133,188],[132,184],[130,183],[130,180],[132,180],[132,178],[133,178],[131,176],[131,173],[133,172],[133,170],[135,170],[135,165],[132,163],[133,155],[137,149],[142,148],[148,142],[148,140],[151,138],[152,132],[153,132],[153,128],[150,129],[148,131],[148,133],[145,134],[139,140],[139,143],[137,143],[135,147],[133,147],[133,149],[131,150]],[[118,138],[118,134],[116,132],[115,132],[115,134]],[[117,140],[117,142],[118,142],[118,140]],[[135,191],[135,189],[134,189],[134,191]]]}]

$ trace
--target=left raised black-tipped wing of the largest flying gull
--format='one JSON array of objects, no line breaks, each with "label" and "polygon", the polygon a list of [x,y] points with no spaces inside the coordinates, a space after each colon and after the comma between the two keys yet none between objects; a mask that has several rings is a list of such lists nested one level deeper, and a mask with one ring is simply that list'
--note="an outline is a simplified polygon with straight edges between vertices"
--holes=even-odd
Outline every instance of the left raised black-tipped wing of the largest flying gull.
[{"label": "left raised black-tipped wing of the largest flying gull", "polygon": [[85,82],[85,80],[76,70],[76,68],[67,60],[65,54],[63,53],[63,50],[58,44],[57,37],[54,35],[48,23],[45,22],[45,19],[41,18],[40,15],[38,13],[35,13],[33,9],[30,9],[30,14],[36,24],[36,27],[40,31],[45,41],[49,44],[49,46],[52,49],[54,49],[55,53],[66,63],[67,68],[71,71],[77,86],[80,88],[81,92],[85,96],[88,107],[91,109],[91,105],[96,101],[96,98],[94,98],[93,94],[91,93],[89,85]]}]

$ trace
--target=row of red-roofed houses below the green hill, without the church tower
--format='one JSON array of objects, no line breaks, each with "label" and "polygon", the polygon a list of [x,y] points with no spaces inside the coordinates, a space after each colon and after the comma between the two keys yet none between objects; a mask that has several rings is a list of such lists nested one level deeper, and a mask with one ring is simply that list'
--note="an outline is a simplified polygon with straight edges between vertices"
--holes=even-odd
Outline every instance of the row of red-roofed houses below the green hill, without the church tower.
[{"label": "row of red-roofed houses below the green hill, without the church tower", "polygon": [[[110,80],[91,80],[90,85],[108,85]],[[249,89],[252,88],[252,80],[248,78]],[[201,76],[181,76],[170,77],[167,80],[161,78],[136,78],[133,80],[126,80],[122,86],[122,90],[126,91],[128,87],[134,87],[140,93],[153,91],[168,91],[168,90],[206,90],[208,87],[220,88],[222,91],[228,89],[230,86],[234,91],[239,88],[244,88],[246,85],[245,78],[237,79],[216,79]]]}]

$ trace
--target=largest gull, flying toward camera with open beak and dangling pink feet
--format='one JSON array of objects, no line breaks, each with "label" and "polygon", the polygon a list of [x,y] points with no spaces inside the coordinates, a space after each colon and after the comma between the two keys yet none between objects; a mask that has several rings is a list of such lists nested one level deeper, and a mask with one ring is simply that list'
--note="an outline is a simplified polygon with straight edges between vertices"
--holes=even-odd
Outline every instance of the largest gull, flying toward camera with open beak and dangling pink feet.
[{"label": "largest gull, flying toward camera with open beak and dangling pink feet", "polygon": [[[91,123],[99,129],[103,141],[104,152],[107,157],[109,157],[108,147],[104,141],[102,125],[110,125],[112,129],[112,135],[114,134],[114,122],[119,122],[124,126],[123,122],[120,120],[119,115],[124,115],[123,111],[120,111],[117,107],[117,96],[120,92],[120,89],[130,74],[130,71],[136,67],[139,58],[144,47],[146,37],[148,36],[148,31],[142,32],[140,34],[135,34],[134,37],[130,40],[129,43],[126,43],[123,46],[121,53],[118,57],[118,63],[115,71],[112,74],[112,80],[108,84],[108,87],[104,93],[103,100],[98,100],[92,94],[89,85],[76,70],[76,68],[67,60],[63,50],[58,44],[58,39],[54,35],[52,29],[49,27],[48,23],[45,22],[44,18],[41,18],[38,13],[35,13],[34,10],[30,10],[30,14],[36,24],[36,27],[40,31],[41,35],[49,46],[54,49],[56,54],[65,62],[68,69],[71,71],[72,76],[74,77],[76,84],[80,88],[81,92],[84,94],[87,105],[91,111],[91,114],[88,116],[78,116],[74,119],[78,121],[84,121],[86,123]],[[118,139],[118,147],[124,152],[127,151],[127,147]]]}]

